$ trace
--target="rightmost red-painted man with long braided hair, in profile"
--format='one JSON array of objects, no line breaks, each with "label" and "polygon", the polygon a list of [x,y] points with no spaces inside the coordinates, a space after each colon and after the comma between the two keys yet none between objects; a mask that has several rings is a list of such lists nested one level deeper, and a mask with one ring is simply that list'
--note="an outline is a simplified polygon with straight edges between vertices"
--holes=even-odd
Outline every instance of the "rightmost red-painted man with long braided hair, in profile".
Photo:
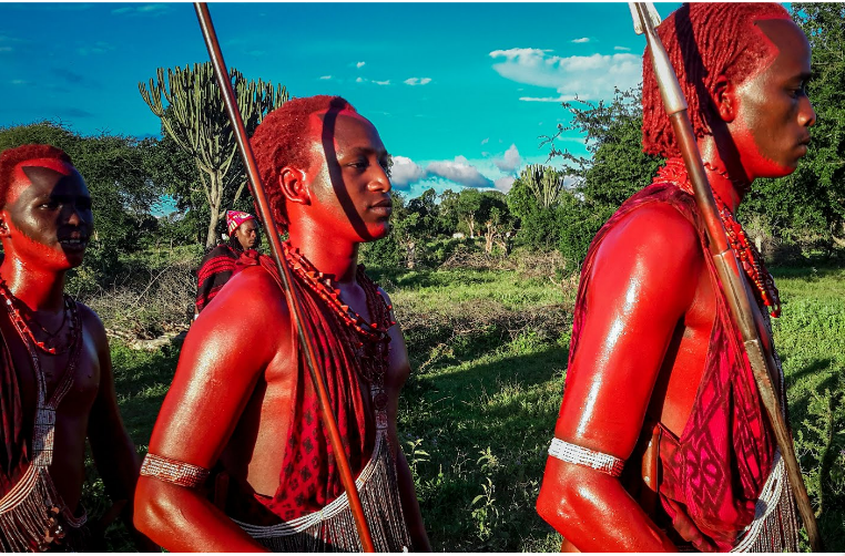
[{"label": "rightmost red-painted man with long braided hair, in profile", "polygon": [[[777,4],[684,4],[659,34],[732,247],[747,257],[749,287],[776,315],[771,276],[732,214],[755,178],[787,175],[806,153],[815,122],[807,40]],[[766,500],[774,527],[760,535],[762,522],[752,523],[782,467],[648,53],[643,63],[644,150],[669,161],[584,260],[537,511],[563,535],[563,550],[710,552],[741,542],[795,550],[787,491]],[[782,377],[773,383],[783,389]]]}]

